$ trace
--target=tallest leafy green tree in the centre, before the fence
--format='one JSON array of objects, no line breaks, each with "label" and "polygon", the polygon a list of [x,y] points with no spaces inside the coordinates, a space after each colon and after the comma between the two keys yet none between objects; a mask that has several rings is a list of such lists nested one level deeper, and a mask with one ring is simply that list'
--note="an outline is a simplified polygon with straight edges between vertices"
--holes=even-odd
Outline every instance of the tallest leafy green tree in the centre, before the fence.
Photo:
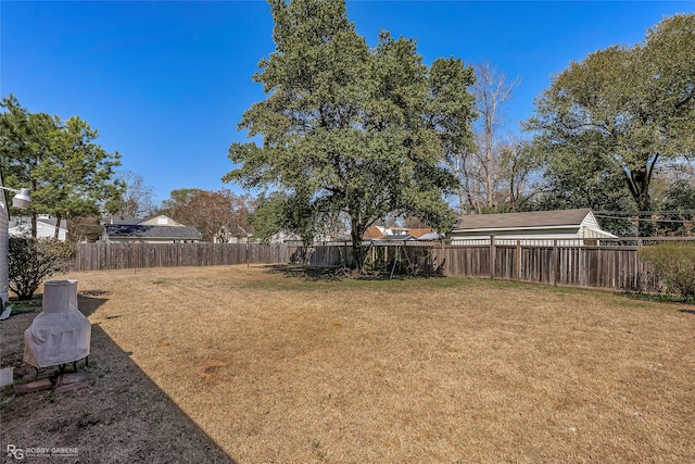
[{"label": "tallest leafy green tree in the centre, before the fence", "polygon": [[388,214],[451,227],[442,196],[456,179],[443,167],[442,115],[458,103],[466,109],[459,124],[469,130],[472,99],[444,95],[456,87],[451,79],[470,79],[464,64],[438,60],[430,72],[413,40],[388,33],[369,49],[343,0],[271,0],[270,11],[276,49],[253,76],[267,98],[239,125],[261,143],[233,143],[229,159],[238,167],[223,179],[278,191],[260,214],[287,215],[274,224],[307,241],[343,214],[356,263],[364,231]]}]

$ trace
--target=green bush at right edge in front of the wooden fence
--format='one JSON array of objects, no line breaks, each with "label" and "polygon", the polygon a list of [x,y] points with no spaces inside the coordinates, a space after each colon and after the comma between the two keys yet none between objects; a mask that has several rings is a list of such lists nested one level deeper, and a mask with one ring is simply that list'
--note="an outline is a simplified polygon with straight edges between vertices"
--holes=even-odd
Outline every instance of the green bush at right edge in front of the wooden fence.
[{"label": "green bush at right edge in front of the wooden fence", "polygon": [[670,292],[695,302],[695,242],[659,243],[640,250],[640,259],[654,266]]}]

